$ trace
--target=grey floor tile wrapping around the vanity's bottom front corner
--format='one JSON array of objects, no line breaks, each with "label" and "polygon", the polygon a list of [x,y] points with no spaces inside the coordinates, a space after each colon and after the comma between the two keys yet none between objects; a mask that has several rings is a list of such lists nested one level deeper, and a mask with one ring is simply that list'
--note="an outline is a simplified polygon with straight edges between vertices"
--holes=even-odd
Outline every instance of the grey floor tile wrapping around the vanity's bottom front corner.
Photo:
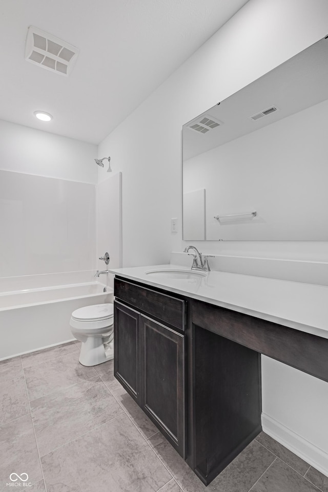
[{"label": "grey floor tile wrapping around the vanity's bottom front corner", "polygon": [[252,441],[206,487],[160,433],[149,438],[148,442],[184,492],[212,492],[214,490],[248,492],[276,458],[258,442]]}]

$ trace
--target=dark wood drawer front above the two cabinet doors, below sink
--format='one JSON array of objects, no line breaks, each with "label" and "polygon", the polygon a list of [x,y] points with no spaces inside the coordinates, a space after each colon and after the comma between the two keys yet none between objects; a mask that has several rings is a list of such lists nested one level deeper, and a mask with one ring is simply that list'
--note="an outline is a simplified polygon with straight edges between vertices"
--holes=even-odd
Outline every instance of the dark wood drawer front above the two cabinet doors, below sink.
[{"label": "dark wood drawer front above the two cabinet doors, below sink", "polygon": [[185,330],[185,301],[182,299],[119,278],[114,279],[114,296],[179,330]]}]

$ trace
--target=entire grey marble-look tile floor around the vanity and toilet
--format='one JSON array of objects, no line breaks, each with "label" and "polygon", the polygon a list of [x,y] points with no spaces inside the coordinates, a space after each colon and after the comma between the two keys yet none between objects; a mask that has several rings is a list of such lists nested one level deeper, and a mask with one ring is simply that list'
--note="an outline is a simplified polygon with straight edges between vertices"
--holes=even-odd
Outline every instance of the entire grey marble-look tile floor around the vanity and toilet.
[{"label": "entire grey marble-look tile floor around the vanity and toilet", "polygon": [[[328,492],[328,478],[261,433],[205,487],[113,376],[71,342],[0,362],[0,491]],[[19,479],[12,475],[17,483]]]}]

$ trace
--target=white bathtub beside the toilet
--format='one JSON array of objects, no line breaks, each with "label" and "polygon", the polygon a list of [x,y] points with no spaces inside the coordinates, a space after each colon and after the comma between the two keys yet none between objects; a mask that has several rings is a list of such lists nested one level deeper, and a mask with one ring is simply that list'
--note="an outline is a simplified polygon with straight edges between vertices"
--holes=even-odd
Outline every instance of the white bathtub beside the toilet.
[{"label": "white bathtub beside the toilet", "polygon": [[[0,293],[0,360],[73,340],[69,321],[75,309],[113,302],[113,289],[101,282],[60,285],[56,277],[55,285],[47,285],[51,277],[42,280],[43,286],[37,287],[30,279],[31,289],[26,289],[26,281],[20,282],[24,289],[10,281]],[[6,289],[4,279],[0,284]]]}]

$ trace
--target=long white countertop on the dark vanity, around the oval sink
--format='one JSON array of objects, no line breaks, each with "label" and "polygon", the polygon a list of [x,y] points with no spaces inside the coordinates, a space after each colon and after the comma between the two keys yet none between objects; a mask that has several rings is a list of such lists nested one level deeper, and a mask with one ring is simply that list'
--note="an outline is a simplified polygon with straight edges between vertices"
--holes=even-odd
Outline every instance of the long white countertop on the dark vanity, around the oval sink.
[{"label": "long white countertop on the dark vanity, around the oval sink", "polygon": [[155,269],[190,271],[172,264],[109,271],[168,292],[328,338],[327,286],[218,271],[197,279],[157,279],[146,274]]}]

